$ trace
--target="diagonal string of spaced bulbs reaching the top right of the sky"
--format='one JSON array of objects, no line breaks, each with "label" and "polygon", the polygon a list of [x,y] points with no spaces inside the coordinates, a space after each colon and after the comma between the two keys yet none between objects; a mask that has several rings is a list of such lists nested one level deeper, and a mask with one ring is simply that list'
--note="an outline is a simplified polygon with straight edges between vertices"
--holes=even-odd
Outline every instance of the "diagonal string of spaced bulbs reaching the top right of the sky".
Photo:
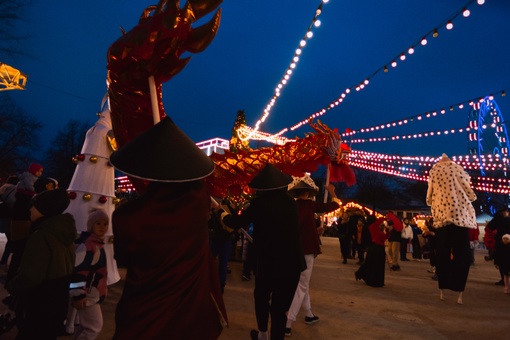
[{"label": "diagonal string of spaced bulbs reaching the top right of the sky", "polygon": [[[306,118],[306,119],[298,122],[297,124],[293,125],[292,127],[290,127],[290,130],[294,131],[294,130],[296,130],[296,129],[298,129],[298,128],[308,124],[308,121],[310,119],[319,118],[322,115],[324,115],[326,112],[328,112],[329,110],[339,106],[344,101],[344,99],[347,97],[347,95],[352,93],[353,91],[359,92],[359,91],[363,90],[366,86],[368,86],[370,84],[370,81],[372,80],[373,77],[375,77],[375,75],[377,75],[380,72],[389,72],[388,65],[390,65],[391,68],[397,67],[397,65],[398,65],[397,60],[400,60],[402,62],[405,61],[407,56],[410,56],[410,55],[414,54],[415,48],[417,48],[418,46],[426,46],[427,43],[428,43],[427,39],[429,39],[430,37],[437,38],[439,36],[439,30],[440,29],[443,29],[443,28],[446,29],[446,30],[453,29],[453,21],[460,14],[462,14],[462,16],[464,18],[469,17],[470,14],[471,14],[471,11],[469,10],[469,7],[471,5],[473,5],[475,2],[478,5],[483,5],[485,3],[485,0],[476,0],[476,1],[475,0],[470,0],[467,4],[462,6],[453,15],[451,15],[447,20],[441,22],[439,25],[435,26],[432,30],[430,30],[426,34],[424,34],[419,41],[417,41],[416,43],[412,44],[411,47],[409,47],[407,50],[398,53],[394,58],[392,58],[392,60],[390,62],[384,64],[381,67],[379,67],[376,71],[374,71],[370,76],[366,77],[360,83],[345,89],[345,91],[343,91],[337,99],[333,100],[327,106],[323,107],[319,111],[316,111],[312,115],[308,116],[308,118]],[[282,131],[283,132],[288,131],[288,128],[285,128]]]}]

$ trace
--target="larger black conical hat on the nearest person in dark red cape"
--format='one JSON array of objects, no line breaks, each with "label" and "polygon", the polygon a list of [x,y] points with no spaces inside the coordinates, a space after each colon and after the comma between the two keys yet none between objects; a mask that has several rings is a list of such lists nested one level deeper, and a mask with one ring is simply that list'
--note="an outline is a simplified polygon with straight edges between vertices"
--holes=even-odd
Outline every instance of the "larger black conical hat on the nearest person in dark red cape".
[{"label": "larger black conical hat on the nearest person in dark red cape", "polygon": [[143,132],[110,156],[128,176],[156,182],[187,182],[207,177],[214,163],[170,117]]}]

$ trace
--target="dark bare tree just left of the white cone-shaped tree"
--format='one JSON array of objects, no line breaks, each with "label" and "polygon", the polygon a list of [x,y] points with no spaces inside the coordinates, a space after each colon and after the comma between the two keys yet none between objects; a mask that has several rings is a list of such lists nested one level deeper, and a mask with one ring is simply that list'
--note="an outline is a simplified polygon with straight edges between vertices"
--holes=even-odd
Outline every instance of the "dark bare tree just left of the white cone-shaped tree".
[{"label": "dark bare tree just left of the white cone-shaped tree", "polygon": [[73,178],[76,167],[73,157],[80,153],[90,126],[89,123],[70,120],[57,132],[46,152],[44,174],[58,180],[62,188],[67,188]]}]

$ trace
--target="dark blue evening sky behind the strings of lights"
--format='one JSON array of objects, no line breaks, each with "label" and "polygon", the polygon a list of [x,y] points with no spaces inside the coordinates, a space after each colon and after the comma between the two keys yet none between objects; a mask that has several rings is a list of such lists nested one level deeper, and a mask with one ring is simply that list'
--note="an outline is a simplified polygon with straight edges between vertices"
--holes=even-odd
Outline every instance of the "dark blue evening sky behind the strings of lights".
[{"label": "dark blue evening sky behind the strings of lights", "polygon": [[[43,122],[42,144],[69,119],[96,120],[106,92],[106,51],[130,30],[154,1],[33,1],[23,13],[26,50],[32,58],[3,62],[29,75],[26,91],[11,96]],[[183,2],[184,3],[184,2]],[[467,0],[330,0],[323,6],[314,37],[303,49],[289,84],[261,130],[275,133],[326,107],[346,89],[370,77],[370,84],[348,95],[321,120],[340,131],[359,129],[506,89],[510,92],[510,1],[487,0],[469,6],[454,28],[446,20]],[[218,35],[188,66],[163,86],[167,113],[195,141],[229,139],[236,112],[254,125],[289,66],[299,41],[320,4],[318,0],[225,0]],[[199,23],[205,23],[200,21]],[[439,36],[418,44],[412,56],[389,63],[435,27]],[[510,95],[496,96],[510,116]],[[448,111],[441,119],[385,131],[385,135],[459,128],[469,109]],[[287,137],[308,131],[300,128]],[[367,136],[364,136],[367,137]],[[408,155],[467,153],[466,135],[413,142],[365,143],[355,149]]]}]

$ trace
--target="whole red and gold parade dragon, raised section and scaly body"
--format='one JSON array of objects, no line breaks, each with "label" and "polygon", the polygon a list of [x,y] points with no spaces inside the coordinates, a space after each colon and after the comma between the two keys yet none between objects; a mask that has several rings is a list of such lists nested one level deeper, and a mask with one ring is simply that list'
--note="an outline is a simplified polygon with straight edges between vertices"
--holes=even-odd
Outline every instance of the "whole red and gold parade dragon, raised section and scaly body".
[{"label": "whole red and gold parade dragon, raised section and scaly body", "polygon": [[[170,80],[189,62],[190,58],[180,58],[184,52],[198,53],[211,43],[219,27],[219,9],[207,24],[198,28],[192,25],[216,10],[221,2],[188,0],[181,8],[179,0],[161,0],[157,6],[147,7],[138,25],[127,33],[123,32],[122,37],[110,46],[107,56],[108,94],[113,132],[119,147],[154,124],[148,82],[150,76],[154,77],[156,84],[159,116],[165,116],[161,100],[162,83]],[[316,133],[283,146],[213,154],[211,158],[216,170],[207,178],[213,195],[225,197],[234,190],[243,190],[266,163],[296,176],[316,170],[319,164],[333,163],[338,165],[336,173],[343,172],[343,180],[352,183],[352,171],[344,171],[346,162],[340,157],[341,151],[349,148],[341,144],[340,135],[320,122],[311,125]],[[137,189],[142,185],[134,184]]]}]

